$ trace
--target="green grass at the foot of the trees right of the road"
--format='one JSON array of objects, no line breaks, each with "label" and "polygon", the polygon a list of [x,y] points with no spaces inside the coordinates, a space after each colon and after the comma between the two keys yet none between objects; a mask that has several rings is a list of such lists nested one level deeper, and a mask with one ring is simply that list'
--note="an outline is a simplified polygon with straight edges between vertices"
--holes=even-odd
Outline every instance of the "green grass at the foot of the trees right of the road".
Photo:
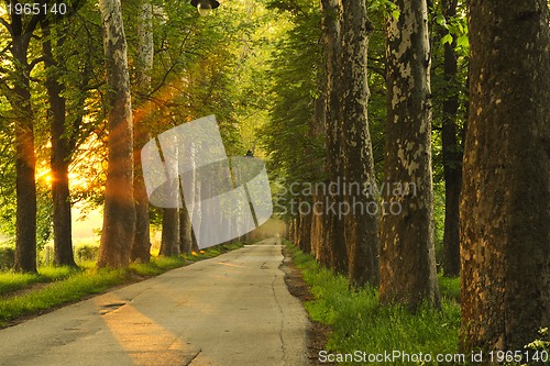
[{"label": "green grass at the foot of the trees right of the road", "polygon": [[[399,306],[383,307],[372,288],[353,289],[343,276],[322,268],[309,255],[287,245],[301,269],[315,300],[305,303],[312,320],[328,324],[332,332],[326,350],[331,354],[407,354],[451,355],[458,353],[460,307],[458,279],[444,280],[442,311],[424,308],[413,314]],[[340,362],[339,365],[358,363]],[[415,362],[362,362],[362,364],[414,365]],[[418,363],[421,364],[421,363]],[[437,365],[432,362],[426,363]],[[443,365],[443,363],[441,364]],[[449,365],[449,363],[444,363]]]}]

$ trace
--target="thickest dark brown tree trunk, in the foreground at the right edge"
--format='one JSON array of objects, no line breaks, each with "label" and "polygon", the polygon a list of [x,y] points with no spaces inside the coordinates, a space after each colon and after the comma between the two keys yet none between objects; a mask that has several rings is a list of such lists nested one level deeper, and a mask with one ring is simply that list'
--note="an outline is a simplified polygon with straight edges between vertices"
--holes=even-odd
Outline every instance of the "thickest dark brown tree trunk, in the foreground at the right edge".
[{"label": "thickest dark brown tree trunk, in the foreground at the right edge", "polygon": [[550,324],[548,3],[471,1],[469,14],[462,346],[524,350]]}]

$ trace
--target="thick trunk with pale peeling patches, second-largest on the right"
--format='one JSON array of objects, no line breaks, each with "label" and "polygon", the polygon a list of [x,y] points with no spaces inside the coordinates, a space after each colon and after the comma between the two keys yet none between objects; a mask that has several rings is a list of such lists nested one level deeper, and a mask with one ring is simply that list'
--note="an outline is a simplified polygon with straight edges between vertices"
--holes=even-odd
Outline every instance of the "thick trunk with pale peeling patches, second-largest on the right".
[{"label": "thick trunk with pale peeling patches, second-largest on the right", "polygon": [[[439,304],[433,249],[430,45],[426,0],[386,23],[388,114],[381,222],[382,302]],[[393,189],[402,186],[402,191]],[[387,189],[392,188],[392,189]],[[399,212],[400,210],[400,212]]]}]

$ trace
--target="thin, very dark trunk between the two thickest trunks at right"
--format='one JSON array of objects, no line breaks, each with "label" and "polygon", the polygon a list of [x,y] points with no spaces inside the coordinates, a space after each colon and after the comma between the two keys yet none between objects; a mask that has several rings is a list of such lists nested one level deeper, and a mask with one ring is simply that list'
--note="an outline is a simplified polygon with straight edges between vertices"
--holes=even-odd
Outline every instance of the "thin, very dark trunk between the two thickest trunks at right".
[{"label": "thin, very dark trunk between the two thickest trunks at right", "polygon": [[[450,21],[457,14],[457,0],[443,0],[443,14]],[[448,31],[444,31],[448,33]],[[446,179],[446,218],[443,233],[443,274],[455,277],[460,274],[459,203],[462,186],[462,146],[458,138],[459,90],[457,85],[455,41],[446,43],[443,71],[447,82],[443,100],[443,174]]]}]

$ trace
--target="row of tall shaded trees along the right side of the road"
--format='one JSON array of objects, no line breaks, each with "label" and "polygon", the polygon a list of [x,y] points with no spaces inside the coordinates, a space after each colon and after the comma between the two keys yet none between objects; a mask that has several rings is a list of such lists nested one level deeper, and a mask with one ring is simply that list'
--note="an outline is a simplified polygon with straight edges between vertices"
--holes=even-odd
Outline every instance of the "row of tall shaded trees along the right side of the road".
[{"label": "row of tall shaded trees along the right side of the road", "polygon": [[263,143],[283,187],[316,187],[276,193],[292,239],[383,303],[438,307],[442,179],[440,258],[446,275],[461,269],[463,348],[522,350],[550,323],[548,3],[320,5],[272,1],[296,25]]}]

